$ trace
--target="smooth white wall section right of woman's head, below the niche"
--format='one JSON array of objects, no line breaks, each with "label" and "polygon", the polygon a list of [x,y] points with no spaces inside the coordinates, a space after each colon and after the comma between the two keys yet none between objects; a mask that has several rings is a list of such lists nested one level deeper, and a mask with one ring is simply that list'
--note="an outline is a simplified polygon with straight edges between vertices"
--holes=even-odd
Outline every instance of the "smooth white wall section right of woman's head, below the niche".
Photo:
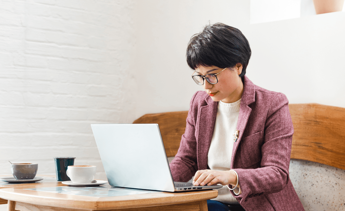
[{"label": "smooth white wall section right of woman's head, below the niche", "polygon": [[245,29],[248,77],[290,103],[345,107],[345,12],[260,23]]}]

